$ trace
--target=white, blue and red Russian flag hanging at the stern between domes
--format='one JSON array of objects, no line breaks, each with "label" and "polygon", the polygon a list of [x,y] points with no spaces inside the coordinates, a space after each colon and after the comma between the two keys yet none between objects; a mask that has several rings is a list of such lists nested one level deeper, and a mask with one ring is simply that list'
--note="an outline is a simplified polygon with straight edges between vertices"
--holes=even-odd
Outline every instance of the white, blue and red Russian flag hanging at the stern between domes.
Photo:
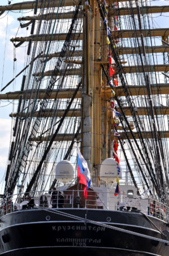
[{"label": "white, blue and red Russian flag hanging at the stern between domes", "polygon": [[87,199],[87,190],[91,184],[91,176],[87,162],[79,151],[79,148],[77,148],[77,176],[79,178],[79,183],[85,186],[84,197]]}]

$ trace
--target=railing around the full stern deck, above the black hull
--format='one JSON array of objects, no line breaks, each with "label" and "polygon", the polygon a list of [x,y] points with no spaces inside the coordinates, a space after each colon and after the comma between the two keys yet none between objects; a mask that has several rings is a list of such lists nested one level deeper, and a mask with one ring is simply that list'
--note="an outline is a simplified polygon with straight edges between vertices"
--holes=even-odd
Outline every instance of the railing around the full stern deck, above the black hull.
[{"label": "railing around the full stern deck, above the black hull", "polygon": [[[33,199],[32,204],[30,199]],[[29,204],[29,205],[28,205]],[[16,207],[17,209],[15,209]],[[169,220],[169,207],[159,202],[139,195],[127,195],[114,192],[90,190],[87,199],[83,190],[66,189],[57,193],[55,206],[51,204],[51,191],[32,191],[31,193],[19,193],[1,200],[1,216],[17,210],[29,208],[95,208],[118,211],[143,212],[146,215],[157,217],[165,221]]]}]

